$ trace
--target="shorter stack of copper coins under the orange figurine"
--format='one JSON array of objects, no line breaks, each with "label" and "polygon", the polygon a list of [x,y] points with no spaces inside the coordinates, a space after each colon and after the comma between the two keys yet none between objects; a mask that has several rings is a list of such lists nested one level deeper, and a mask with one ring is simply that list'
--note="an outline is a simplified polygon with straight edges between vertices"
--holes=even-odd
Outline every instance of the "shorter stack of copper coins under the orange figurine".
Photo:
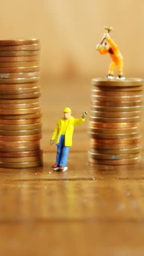
[{"label": "shorter stack of copper coins under the orange figurine", "polygon": [[140,162],[142,106],[142,79],[92,79],[89,162],[104,165]]}]

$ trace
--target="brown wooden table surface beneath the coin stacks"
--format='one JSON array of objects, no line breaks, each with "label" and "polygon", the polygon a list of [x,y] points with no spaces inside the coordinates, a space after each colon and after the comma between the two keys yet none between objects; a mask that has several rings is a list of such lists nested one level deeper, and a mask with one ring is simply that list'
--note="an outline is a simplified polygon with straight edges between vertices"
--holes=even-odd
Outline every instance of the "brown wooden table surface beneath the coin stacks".
[{"label": "brown wooden table surface beneath the coin stacks", "polygon": [[53,171],[52,131],[64,107],[75,118],[89,109],[91,81],[42,85],[44,166],[0,169],[1,255],[143,256],[143,158],[135,165],[89,164],[87,119],[75,127],[68,171]]}]

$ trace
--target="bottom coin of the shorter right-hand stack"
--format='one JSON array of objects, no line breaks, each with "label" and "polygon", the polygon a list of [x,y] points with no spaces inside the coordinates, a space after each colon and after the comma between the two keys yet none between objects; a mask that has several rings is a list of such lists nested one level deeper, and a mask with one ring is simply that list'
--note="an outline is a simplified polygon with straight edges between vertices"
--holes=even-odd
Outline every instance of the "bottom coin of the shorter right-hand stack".
[{"label": "bottom coin of the shorter right-hand stack", "polygon": [[123,160],[99,160],[99,159],[93,159],[93,158],[88,158],[89,162],[92,162],[93,164],[97,165],[132,165],[132,164],[137,164],[138,162],[141,161],[141,158],[134,158],[134,159],[123,159]]}]

